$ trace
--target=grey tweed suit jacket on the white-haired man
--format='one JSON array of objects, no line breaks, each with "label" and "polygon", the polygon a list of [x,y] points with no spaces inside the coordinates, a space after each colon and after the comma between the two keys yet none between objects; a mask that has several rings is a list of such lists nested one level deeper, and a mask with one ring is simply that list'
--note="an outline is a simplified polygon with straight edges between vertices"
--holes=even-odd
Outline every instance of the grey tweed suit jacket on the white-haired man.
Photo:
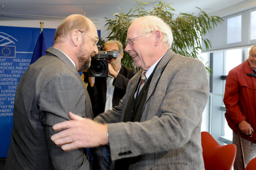
[{"label": "grey tweed suit jacket on the white-haired man", "polygon": [[203,63],[168,50],[149,85],[140,122],[121,122],[128,98],[142,71],[129,81],[112,111],[96,121],[108,123],[112,160],[131,157],[129,169],[204,169],[202,112],[209,82]]}]

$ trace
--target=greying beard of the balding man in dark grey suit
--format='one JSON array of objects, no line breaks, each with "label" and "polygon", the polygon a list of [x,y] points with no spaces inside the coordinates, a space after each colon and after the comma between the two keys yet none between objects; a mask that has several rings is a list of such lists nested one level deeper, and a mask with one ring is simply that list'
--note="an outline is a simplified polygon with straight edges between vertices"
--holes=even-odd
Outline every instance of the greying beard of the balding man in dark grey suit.
[{"label": "greying beard of the balding man in dark grey suit", "polygon": [[88,51],[82,48],[81,46],[79,47],[79,51],[76,53],[79,67],[77,71],[84,71],[88,69],[91,66],[91,61],[90,58],[91,56],[87,56]]}]

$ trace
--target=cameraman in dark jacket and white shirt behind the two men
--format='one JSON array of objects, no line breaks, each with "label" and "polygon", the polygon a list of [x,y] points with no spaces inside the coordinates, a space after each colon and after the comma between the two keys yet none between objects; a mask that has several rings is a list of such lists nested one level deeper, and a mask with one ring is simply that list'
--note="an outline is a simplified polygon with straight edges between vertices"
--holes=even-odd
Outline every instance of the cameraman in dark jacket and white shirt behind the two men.
[{"label": "cameraman in dark jacket and white shirt behind the two men", "polygon": [[[89,77],[87,86],[88,93],[92,102],[93,115],[97,115],[112,110],[119,104],[126,92],[129,79],[136,74],[131,68],[121,65],[124,55],[123,44],[120,41],[108,41],[104,44],[104,51],[117,50],[117,58],[108,58],[109,75],[107,77]],[[93,169],[111,169],[111,157],[109,145],[99,146],[90,149],[93,155]]]}]

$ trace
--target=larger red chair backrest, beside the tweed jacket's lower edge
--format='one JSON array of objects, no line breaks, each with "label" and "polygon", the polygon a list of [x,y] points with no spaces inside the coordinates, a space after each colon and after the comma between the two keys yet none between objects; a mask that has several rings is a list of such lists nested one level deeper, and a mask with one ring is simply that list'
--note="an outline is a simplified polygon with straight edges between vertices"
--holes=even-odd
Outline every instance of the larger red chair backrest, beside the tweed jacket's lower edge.
[{"label": "larger red chair backrest, beside the tweed jacket's lower edge", "polygon": [[205,170],[232,170],[236,145],[220,145],[210,133],[201,132],[203,160]]}]

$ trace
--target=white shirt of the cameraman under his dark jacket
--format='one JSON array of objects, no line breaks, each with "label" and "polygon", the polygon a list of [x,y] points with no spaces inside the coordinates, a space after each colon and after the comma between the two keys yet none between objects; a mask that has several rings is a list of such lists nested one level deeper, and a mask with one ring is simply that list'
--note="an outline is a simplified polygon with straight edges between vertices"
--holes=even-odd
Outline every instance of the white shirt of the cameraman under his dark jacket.
[{"label": "white shirt of the cameraman under his dark jacket", "polygon": [[[122,66],[120,66],[118,73],[120,71]],[[113,100],[113,94],[115,90],[115,86],[113,85],[114,77],[111,75],[108,75],[107,77],[107,93],[106,93],[106,103],[105,103],[105,111],[112,110],[112,100]]]}]

